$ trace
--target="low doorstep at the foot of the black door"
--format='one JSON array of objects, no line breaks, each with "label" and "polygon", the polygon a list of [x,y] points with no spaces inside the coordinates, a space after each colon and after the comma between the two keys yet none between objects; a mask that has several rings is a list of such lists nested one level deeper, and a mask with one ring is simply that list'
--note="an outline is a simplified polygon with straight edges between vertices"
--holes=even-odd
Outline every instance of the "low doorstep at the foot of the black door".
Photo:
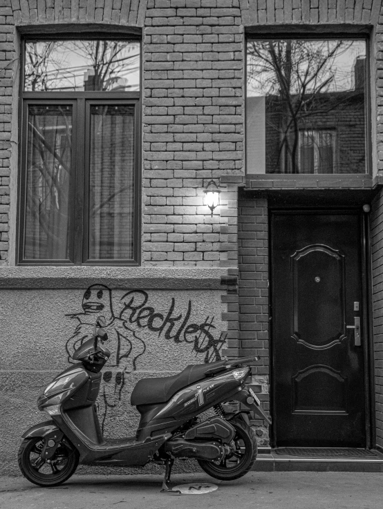
[{"label": "low doorstep at the foot of the black door", "polygon": [[[317,448],[321,457],[308,457],[306,448],[299,448],[303,454],[281,454],[282,449],[260,448],[253,470],[258,472],[383,472],[383,454],[377,450],[358,449],[357,457],[335,457],[341,448]],[[295,448],[298,449],[298,448]],[[312,448],[309,449],[312,451]],[[330,450],[330,454],[323,454]],[[278,451],[278,452],[277,452]],[[365,452],[365,454],[362,454]],[[371,453],[373,455],[371,455]]]}]

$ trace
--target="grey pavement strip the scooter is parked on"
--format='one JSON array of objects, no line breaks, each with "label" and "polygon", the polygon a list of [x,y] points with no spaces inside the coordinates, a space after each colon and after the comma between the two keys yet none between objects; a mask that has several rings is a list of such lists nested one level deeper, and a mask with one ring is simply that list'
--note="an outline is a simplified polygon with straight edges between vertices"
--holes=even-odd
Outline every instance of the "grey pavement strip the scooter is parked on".
[{"label": "grey pavement strip the scooter is parked on", "polygon": [[[250,472],[236,481],[204,473],[174,474],[172,486],[196,483],[189,494],[160,493],[160,475],[74,475],[57,488],[24,477],[0,477],[1,509],[382,509],[383,473]],[[198,486],[218,486],[201,493]]]}]

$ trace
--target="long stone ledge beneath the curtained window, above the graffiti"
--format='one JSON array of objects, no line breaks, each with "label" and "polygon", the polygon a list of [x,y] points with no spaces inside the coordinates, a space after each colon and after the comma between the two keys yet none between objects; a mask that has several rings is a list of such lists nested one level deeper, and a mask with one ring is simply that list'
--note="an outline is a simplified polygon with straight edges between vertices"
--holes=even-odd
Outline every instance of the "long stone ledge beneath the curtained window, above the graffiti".
[{"label": "long stone ledge beneath the curtained window, above the graffiti", "polygon": [[171,267],[0,267],[0,289],[84,289],[101,283],[111,289],[225,290],[227,269]]}]

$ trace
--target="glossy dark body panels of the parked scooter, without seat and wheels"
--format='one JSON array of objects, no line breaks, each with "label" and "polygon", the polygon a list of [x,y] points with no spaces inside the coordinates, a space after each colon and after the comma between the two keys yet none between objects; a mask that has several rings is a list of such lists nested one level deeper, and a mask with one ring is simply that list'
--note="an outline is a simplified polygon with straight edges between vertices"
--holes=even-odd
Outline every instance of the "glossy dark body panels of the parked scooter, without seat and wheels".
[{"label": "glossy dark body panels of the parked scooter, without seat and wheels", "polygon": [[141,420],[136,437],[105,440],[95,411],[102,374],[73,365],[39,396],[39,410],[50,414],[53,421],[41,423],[27,434],[61,430],[79,451],[83,464],[145,465],[175,430],[214,405],[235,399],[249,372],[249,367],[230,369],[183,387],[165,403],[139,405]]}]

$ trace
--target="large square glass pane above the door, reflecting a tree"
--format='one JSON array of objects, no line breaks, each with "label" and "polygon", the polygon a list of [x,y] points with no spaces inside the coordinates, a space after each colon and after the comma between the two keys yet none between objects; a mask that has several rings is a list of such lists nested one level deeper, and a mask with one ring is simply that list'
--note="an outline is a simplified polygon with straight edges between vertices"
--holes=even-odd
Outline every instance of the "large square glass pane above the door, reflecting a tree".
[{"label": "large square glass pane above the door, reflecting a tree", "polygon": [[247,41],[247,173],[366,173],[366,40]]}]

